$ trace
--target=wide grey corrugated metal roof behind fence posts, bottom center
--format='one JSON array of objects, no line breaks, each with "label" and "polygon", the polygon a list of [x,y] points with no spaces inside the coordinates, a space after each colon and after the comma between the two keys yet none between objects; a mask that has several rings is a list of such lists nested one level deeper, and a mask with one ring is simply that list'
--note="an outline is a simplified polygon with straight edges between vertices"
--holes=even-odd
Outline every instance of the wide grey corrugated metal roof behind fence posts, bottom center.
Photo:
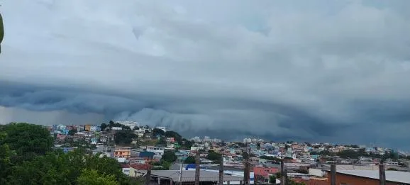
[{"label": "wide grey corrugated metal roof behind fence posts, bottom center", "polygon": [[[151,176],[160,176],[166,179],[172,179],[173,181],[179,181],[179,170],[153,170]],[[218,172],[208,172],[201,170],[199,175],[199,181],[218,181]],[[242,181],[243,177],[224,175],[223,181]],[[184,170],[182,171],[182,181],[195,181],[195,171]]]}]

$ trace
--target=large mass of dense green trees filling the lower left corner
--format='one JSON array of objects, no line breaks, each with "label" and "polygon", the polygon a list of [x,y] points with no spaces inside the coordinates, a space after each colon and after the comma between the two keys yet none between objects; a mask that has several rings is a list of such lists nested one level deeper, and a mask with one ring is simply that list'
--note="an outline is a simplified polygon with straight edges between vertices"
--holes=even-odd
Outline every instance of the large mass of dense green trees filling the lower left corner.
[{"label": "large mass of dense green trees filling the lower left corner", "polygon": [[52,150],[40,125],[0,126],[0,184],[138,184],[123,174],[116,159],[87,155],[83,148]]}]

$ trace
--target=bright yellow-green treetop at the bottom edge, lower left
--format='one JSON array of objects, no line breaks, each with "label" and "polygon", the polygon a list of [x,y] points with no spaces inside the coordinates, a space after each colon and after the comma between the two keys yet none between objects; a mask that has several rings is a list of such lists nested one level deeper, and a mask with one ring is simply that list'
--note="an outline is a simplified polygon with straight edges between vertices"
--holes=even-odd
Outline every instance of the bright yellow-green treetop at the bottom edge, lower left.
[{"label": "bright yellow-green treetop at the bottom edge, lower left", "polygon": [[77,182],[79,185],[119,185],[115,176],[99,174],[94,169],[84,169]]}]

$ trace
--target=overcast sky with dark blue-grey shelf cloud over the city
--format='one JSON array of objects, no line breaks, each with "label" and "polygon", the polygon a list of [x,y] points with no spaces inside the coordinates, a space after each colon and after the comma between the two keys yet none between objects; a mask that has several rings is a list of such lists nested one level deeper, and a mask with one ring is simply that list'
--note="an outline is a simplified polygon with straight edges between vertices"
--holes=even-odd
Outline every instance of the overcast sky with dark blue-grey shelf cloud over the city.
[{"label": "overcast sky with dark blue-grey shelf cloud over the city", "polygon": [[410,150],[410,13],[392,1],[1,1],[0,123]]}]

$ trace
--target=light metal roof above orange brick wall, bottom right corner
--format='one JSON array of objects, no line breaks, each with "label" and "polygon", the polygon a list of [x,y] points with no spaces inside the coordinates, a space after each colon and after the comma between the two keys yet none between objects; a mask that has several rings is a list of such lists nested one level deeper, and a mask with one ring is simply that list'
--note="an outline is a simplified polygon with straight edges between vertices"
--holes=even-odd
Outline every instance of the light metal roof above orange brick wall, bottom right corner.
[{"label": "light metal roof above orange brick wall, bottom right corner", "polygon": [[[362,176],[370,179],[379,179],[378,170],[340,170],[339,174],[349,174],[353,176]],[[410,173],[399,171],[386,171],[386,181],[410,184]]]}]

